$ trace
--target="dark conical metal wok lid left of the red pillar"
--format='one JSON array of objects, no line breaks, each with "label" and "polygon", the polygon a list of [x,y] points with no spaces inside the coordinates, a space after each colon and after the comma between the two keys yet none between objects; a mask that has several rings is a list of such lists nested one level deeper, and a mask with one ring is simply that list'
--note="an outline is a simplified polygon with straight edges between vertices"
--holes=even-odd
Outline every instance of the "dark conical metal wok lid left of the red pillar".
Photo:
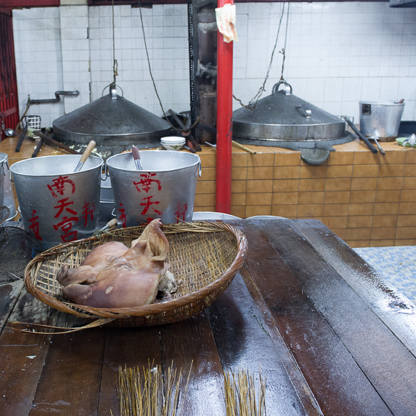
[{"label": "dark conical metal wok lid left of the red pillar", "polygon": [[56,140],[98,146],[125,146],[148,144],[169,135],[171,125],[116,94],[115,85],[110,94],[53,121]]}]

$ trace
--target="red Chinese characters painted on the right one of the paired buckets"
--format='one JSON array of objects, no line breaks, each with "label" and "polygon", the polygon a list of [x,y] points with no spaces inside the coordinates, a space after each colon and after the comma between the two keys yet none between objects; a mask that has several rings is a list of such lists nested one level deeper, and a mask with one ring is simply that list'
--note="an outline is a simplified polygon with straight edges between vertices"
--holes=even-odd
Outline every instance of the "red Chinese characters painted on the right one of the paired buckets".
[{"label": "red Chinese characters painted on the right one of the paired buckets", "polygon": [[[162,191],[162,184],[160,183],[160,180],[157,179],[157,173],[141,173],[140,180],[133,182],[133,184],[135,185],[137,192],[143,193],[140,202],[140,215],[148,216],[146,217],[146,222],[150,223],[156,216],[162,216],[163,211],[158,206],[160,204],[158,195],[160,191]],[[177,211],[175,212],[177,223],[179,223],[180,219],[184,220],[186,212],[187,204],[178,204]],[[121,221],[123,228],[125,228],[125,208],[123,208],[123,204],[121,203],[119,205],[119,213],[119,220]]]}]

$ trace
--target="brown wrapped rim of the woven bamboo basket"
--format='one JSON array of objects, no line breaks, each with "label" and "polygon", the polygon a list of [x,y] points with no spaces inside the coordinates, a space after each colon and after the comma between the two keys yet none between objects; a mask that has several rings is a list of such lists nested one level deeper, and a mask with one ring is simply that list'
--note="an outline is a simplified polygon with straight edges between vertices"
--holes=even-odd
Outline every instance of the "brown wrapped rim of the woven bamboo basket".
[{"label": "brown wrapped rim of the woven bamboo basket", "polygon": [[[78,305],[72,302],[62,302],[60,300],[55,299],[55,297],[52,297],[51,295],[48,295],[47,293],[44,293],[44,291],[41,291],[37,286],[34,284],[33,279],[36,278],[37,271],[33,275],[33,278],[31,278],[31,270],[35,267],[37,270],[39,270],[40,266],[44,263],[46,259],[49,259],[49,257],[54,256],[58,254],[58,252],[62,252],[62,250],[71,248],[74,246],[80,246],[83,245],[83,243],[89,243],[94,241],[100,241],[99,237],[90,237],[89,239],[83,239],[78,241],[73,241],[71,243],[64,243],[57,245],[53,248],[50,248],[49,250],[46,250],[45,252],[42,252],[41,254],[38,254],[33,260],[28,263],[26,266],[25,272],[24,272],[24,285],[26,287],[26,290],[28,293],[31,293],[37,300],[40,300],[40,302],[43,302],[45,304],[48,304],[49,306],[58,309],[63,312],[70,313],[71,315],[76,315],[79,318],[94,318],[94,317],[100,317],[100,318],[131,318],[132,316],[146,316],[146,315],[155,315],[157,313],[164,313],[167,311],[171,311],[172,309],[177,309],[182,306],[186,306],[187,304],[191,304],[192,302],[196,302],[198,300],[202,300],[205,297],[211,295],[215,291],[217,291],[219,288],[227,284],[230,280],[234,278],[234,275],[236,275],[236,272],[243,266],[245,257],[247,255],[248,250],[248,241],[243,232],[241,232],[240,229],[229,225],[227,223],[211,223],[207,221],[195,221],[193,223],[185,223],[186,225],[204,225],[207,227],[213,228],[213,231],[224,231],[229,232],[229,234],[232,234],[234,238],[236,239],[237,243],[237,254],[236,257],[234,257],[234,260],[230,264],[230,266],[223,272],[223,275],[218,277],[216,280],[212,281],[210,284],[207,284],[207,286],[204,286],[203,288],[198,289],[197,291],[193,291],[191,293],[187,293],[186,295],[182,295],[180,297],[177,297],[176,299],[169,300],[167,302],[157,303],[157,304],[148,304],[148,305],[142,305],[142,306],[133,306],[133,307],[124,307],[124,308],[94,308],[92,306],[85,306],[85,305]],[[169,227],[178,227],[178,230],[180,227],[183,227],[183,223],[179,224],[164,224],[164,226]],[[123,229],[116,229],[114,230],[114,233],[123,234],[123,232],[126,232],[128,230],[133,229],[144,229],[146,225],[140,225],[137,227],[128,227]],[[191,230],[189,230],[192,232]],[[71,305],[71,306],[69,306]],[[84,313],[80,313],[76,311],[75,309],[80,309],[81,311],[84,311]]]}]

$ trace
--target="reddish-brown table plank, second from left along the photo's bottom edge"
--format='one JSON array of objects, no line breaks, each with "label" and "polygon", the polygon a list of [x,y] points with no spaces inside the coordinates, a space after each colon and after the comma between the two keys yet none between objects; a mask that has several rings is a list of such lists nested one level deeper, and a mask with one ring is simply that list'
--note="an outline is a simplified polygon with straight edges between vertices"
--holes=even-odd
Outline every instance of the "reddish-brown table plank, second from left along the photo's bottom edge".
[{"label": "reddish-brown table plank, second from left along the photo's bottom edge", "polygon": [[104,341],[104,328],[54,335],[29,415],[96,415]]}]

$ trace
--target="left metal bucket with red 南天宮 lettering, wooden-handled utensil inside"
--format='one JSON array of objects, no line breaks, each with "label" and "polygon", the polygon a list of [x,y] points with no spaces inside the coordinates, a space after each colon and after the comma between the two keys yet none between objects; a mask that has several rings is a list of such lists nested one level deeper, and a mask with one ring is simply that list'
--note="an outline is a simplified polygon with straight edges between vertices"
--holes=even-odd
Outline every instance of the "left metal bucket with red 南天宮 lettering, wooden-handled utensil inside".
[{"label": "left metal bucket with red \u5357\u5929\u5bae lettering, wooden-handled utensil inside", "polygon": [[98,227],[103,159],[90,156],[73,173],[81,155],[36,157],[10,167],[26,231],[42,248],[85,239]]}]

